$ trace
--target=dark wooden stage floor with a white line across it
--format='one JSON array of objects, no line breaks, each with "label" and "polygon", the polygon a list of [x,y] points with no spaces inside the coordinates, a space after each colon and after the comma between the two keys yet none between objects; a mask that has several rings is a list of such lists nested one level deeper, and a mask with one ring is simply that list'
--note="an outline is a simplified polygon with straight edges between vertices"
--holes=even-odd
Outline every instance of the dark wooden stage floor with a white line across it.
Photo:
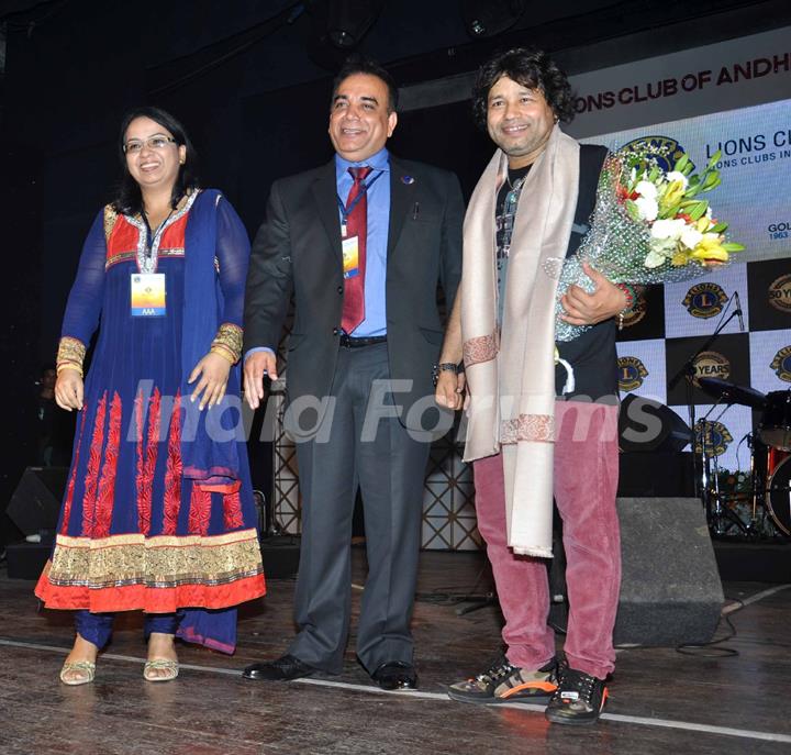
[{"label": "dark wooden stage floor with a white line across it", "polygon": [[[355,548],[355,581],[363,579]],[[791,585],[725,582],[736,635],[682,655],[669,648],[619,651],[610,702],[592,728],[548,724],[541,708],[450,702],[444,685],[480,670],[499,646],[495,607],[461,614],[452,596],[490,589],[478,553],[422,555],[414,635],[415,692],[386,693],[347,654],[339,677],[280,685],[239,670],[285,649],[292,632],[293,580],[245,607],[236,655],[181,646],[169,684],[142,678],[138,614],[119,621],[92,685],[66,687],[57,674],[73,640],[69,613],[40,612],[33,582],[0,571],[0,744],[3,753],[789,753]],[[791,581],[791,575],[790,579]],[[354,590],[355,610],[360,590]],[[744,607],[738,610],[738,603]],[[722,622],[717,637],[728,633]],[[354,647],[354,634],[349,643]]]}]

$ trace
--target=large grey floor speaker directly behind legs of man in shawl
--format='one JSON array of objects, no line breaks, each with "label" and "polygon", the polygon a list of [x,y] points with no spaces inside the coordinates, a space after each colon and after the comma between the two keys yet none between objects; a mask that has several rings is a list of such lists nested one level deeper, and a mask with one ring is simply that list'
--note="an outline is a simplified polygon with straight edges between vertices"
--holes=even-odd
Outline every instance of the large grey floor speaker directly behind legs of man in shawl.
[{"label": "large grey floor speaker directly behind legs of man in shawl", "polygon": [[[709,642],[724,596],[700,499],[619,498],[617,510],[623,574],[615,644]],[[565,628],[565,562],[553,560],[549,620]]]}]

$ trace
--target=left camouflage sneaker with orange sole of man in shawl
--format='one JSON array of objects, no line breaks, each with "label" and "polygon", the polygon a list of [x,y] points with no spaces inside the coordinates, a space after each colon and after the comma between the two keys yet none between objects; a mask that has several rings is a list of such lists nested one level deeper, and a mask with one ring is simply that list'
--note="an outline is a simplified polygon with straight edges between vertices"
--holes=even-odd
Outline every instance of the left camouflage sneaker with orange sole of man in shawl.
[{"label": "left camouflage sneaker with orange sole of man in shawl", "polygon": [[520,668],[501,655],[486,671],[448,687],[452,700],[494,704],[546,702],[557,689],[558,663],[553,658],[536,670]]}]

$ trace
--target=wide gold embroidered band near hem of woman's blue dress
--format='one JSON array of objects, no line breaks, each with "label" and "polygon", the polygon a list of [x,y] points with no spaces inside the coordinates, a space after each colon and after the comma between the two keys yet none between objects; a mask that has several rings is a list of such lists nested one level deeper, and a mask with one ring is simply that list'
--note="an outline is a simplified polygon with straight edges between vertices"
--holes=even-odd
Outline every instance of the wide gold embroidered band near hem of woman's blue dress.
[{"label": "wide gold embroidered band near hem of woman's blue dress", "polygon": [[136,534],[92,541],[58,535],[48,578],[59,587],[169,588],[227,585],[258,574],[256,531],[244,530],[215,537]]}]

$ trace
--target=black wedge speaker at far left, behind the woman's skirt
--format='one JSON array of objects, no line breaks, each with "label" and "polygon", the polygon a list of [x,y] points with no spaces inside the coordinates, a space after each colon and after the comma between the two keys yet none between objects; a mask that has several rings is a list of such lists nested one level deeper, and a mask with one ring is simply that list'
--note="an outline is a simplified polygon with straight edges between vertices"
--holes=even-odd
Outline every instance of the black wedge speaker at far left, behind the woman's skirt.
[{"label": "black wedge speaker at far left, behind the woman's skirt", "polygon": [[25,535],[55,530],[68,467],[27,467],[5,513]]}]

